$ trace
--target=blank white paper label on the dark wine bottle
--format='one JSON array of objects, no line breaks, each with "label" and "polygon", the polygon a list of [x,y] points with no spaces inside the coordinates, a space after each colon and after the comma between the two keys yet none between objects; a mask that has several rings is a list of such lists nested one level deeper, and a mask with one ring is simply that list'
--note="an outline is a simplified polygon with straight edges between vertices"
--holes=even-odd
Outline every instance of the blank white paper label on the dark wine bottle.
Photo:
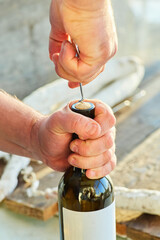
[{"label": "blank white paper label on the dark wine bottle", "polygon": [[116,240],[115,202],[92,212],[63,208],[64,240]]}]

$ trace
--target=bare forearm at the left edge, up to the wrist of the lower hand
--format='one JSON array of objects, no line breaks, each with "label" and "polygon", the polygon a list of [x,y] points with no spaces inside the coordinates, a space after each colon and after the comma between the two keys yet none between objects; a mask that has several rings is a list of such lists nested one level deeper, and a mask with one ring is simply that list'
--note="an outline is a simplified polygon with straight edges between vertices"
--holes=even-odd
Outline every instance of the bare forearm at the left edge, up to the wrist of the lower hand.
[{"label": "bare forearm at the left edge, up to the wrist of the lower hand", "polygon": [[31,131],[41,117],[18,99],[0,91],[0,150],[33,157]]}]

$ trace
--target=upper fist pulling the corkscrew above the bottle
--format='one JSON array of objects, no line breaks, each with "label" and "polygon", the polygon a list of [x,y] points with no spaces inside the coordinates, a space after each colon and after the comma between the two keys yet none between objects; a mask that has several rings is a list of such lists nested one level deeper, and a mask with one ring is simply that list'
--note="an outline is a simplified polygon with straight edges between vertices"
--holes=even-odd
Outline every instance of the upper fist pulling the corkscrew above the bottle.
[{"label": "upper fist pulling the corkscrew above the bottle", "polygon": [[[52,0],[50,59],[71,88],[96,78],[116,53],[117,35],[110,0]],[[72,39],[79,47],[76,57]]]}]

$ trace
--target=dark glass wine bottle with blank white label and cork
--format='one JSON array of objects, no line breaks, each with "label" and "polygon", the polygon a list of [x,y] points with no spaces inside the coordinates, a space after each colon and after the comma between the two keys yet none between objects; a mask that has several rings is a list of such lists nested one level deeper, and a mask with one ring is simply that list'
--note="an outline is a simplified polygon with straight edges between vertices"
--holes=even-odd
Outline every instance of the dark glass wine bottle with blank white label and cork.
[{"label": "dark glass wine bottle with blank white label and cork", "polygon": [[[93,103],[75,103],[71,109],[94,118]],[[73,134],[73,139],[77,137]],[[107,177],[93,180],[87,178],[85,173],[84,169],[70,167],[60,180],[58,187],[60,239],[115,240],[113,185]]]}]

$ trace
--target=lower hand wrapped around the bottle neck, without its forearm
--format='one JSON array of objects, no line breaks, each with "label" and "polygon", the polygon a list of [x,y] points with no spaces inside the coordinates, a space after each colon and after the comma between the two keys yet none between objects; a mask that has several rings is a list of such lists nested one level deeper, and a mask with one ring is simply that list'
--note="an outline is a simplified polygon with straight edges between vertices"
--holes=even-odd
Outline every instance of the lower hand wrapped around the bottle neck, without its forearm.
[{"label": "lower hand wrapped around the bottle neck, without its forearm", "polygon": [[[95,104],[94,120],[72,112],[72,102],[35,124],[32,142],[36,159],[58,171],[66,170],[70,164],[88,169],[88,178],[100,178],[113,170],[116,165],[115,117],[104,103],[92,102]],[[73,133],[79,139],[71,141]]]}]

